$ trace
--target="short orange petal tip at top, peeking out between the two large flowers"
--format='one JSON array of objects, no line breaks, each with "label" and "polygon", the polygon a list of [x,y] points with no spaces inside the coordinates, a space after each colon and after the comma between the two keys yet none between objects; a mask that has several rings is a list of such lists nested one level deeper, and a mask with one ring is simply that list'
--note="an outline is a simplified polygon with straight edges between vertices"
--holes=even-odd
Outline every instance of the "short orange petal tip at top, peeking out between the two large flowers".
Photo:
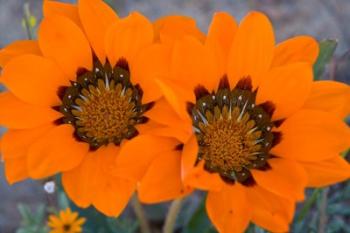
[{"label": "short orange petal tip at top, peeking out between the two large flowers", "polygon": [[205,40],[205,35],[196,26],[196,21],[191,17],[170,15],[157,19],[154,22],[155,40],[172,46],[174,42],[183,36],[194,36],[200,41]]}]

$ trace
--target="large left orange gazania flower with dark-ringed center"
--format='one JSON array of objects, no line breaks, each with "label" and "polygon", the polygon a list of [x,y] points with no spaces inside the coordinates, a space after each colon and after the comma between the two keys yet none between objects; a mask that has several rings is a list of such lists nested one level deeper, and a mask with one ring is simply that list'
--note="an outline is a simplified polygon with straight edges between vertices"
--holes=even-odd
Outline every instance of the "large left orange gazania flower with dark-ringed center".
[{"label": "large left orange gazania flower with dark-ringed center", "polygon": [[161,97],[153,74],[166,67],[151,45],[170,22],[155,27],[139,13],[119,19],[101,0],[45,1],[38,40],[0,52],[8,181],[62,173],[78,206],[118,215],[154,157],[179,144],[147,133],[157,124],[145,115]]}]

